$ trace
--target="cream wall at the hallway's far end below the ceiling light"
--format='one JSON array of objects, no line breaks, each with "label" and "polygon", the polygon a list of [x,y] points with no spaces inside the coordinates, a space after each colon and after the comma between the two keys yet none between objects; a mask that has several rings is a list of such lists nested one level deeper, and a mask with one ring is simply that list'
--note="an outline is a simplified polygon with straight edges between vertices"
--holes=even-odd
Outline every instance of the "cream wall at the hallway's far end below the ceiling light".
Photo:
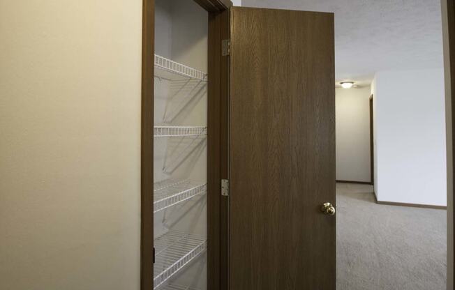
[{"label": "cream wall at the hallway's far end below the ceiling light", "polygon": [[336,180],[371,181],[369,86],[336,89]]}]

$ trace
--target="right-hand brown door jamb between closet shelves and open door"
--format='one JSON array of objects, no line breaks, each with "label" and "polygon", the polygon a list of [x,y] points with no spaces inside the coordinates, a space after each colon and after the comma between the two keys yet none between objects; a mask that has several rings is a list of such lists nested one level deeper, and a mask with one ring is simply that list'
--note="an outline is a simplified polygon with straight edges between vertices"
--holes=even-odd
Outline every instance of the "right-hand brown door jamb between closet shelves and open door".
[{"label": "right-hand brown door jamb between closet shelves and open door", "polygon": [[229,289],[227,252],[229,204],[228,197],[221,195],[221,180],[229,178],[229,56],[222,55],[223,40],[230,38],[229,8],[232,3],[229,1],[227,5],[229,6],[224,6],[220,10],[209,11],[207,289],[210,290]]}]

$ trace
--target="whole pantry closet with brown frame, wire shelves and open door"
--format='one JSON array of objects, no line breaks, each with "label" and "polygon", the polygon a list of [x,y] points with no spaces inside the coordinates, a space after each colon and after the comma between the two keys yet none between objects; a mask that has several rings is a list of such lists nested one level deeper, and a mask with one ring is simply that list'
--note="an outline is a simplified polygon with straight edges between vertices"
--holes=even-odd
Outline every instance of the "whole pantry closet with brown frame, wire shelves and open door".
[{"label": "whole pantry closet with brown frame, wire shelves and open door", "polygon": [[333,15],[231,5],[144,0],[142,290],[332,290]]}]

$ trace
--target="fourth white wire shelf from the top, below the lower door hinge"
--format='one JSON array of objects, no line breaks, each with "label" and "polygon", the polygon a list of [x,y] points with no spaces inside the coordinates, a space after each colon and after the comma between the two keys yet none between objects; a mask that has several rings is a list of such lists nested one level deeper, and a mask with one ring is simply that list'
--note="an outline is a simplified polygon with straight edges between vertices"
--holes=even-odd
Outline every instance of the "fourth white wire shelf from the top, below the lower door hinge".
[{"label": "fourth white wire shelf from the top, below the lower door hinge", "polygon": [[181,231],[168,231],[155,239],[154,246],[154,289],[158,289],[207,249],[207,238]]}]

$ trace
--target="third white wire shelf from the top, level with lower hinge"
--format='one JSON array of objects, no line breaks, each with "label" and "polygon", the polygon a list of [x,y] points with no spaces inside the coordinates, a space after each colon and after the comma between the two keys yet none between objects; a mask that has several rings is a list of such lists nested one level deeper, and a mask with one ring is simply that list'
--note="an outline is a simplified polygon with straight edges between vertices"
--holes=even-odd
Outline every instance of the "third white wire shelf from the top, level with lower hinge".
[{"label": "third white wire shelf from the top, level with lower hinge", "polygon": [[154,213],[207,192],[207,183],[188,179],[167,180],[154,184]]}]

